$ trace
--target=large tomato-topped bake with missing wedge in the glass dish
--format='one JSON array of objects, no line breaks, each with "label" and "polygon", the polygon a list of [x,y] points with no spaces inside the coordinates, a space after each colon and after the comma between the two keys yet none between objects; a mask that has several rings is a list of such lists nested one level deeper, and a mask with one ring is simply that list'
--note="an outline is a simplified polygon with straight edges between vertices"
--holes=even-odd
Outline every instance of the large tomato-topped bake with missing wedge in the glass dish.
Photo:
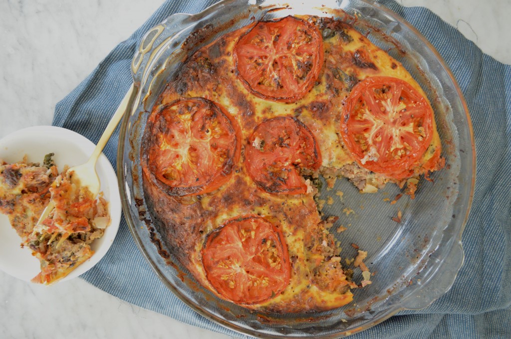
[{"label": "large tomato-topped bake with missing wedge in the glass dish", "polygon": [[318,177],[412,198],[442,168],[434,113],[406,69],[348,23],[288,16],[199,49],[160,94],[142,139],[161,238],[219,298],[274,312],[340,307],[352,281],[318,211]]}]

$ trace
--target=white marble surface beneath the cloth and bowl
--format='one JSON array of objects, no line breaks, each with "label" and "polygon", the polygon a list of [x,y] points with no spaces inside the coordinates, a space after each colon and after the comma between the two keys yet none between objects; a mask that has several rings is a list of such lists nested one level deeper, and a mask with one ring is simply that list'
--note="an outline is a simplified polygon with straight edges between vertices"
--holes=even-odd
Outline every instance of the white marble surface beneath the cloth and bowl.
[{"label": "white marble surface beneath the cloth and bowl", "polygon": [[[400,0],[425,6],[511,64],[511,0]],[[0,2],[0,137],[50,125],[55,104],[160,0]],[[502,40],[503,39],[503,40]],[[0,337],[225,338],[128,304],[81,279],[44,287],[0,272]]]}]

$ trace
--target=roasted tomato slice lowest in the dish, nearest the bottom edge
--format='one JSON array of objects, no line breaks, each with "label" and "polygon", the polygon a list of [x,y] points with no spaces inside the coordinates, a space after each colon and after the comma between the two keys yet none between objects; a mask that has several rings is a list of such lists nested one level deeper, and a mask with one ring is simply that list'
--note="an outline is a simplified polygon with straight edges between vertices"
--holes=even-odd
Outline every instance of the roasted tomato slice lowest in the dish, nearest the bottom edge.
[{"label": "roasted tomato slice lowest in the dish, nearest the bottom edge", "polygon": [[264,302],[289,284],[284,235],[257,215],[230,219],[208,234],[202,263],[217,292],[238,304]]}]

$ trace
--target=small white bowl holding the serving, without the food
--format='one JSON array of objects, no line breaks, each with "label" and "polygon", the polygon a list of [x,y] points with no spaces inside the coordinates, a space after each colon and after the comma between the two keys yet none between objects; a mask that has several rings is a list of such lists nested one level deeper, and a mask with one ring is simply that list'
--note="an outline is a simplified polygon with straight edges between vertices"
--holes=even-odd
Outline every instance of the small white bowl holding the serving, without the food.
[{"label": "small white bowl holding the serving, without the food", "polygon": [[[28,161],[42,163],[44,155],[53,157],[59,172],[64,165],[75,166],[87,161],[95,144],[71,130],[55,126],[34,126],[15,131],[0,140],[0,159],[13,163],[27,155]],[[102,238],[92,243],[94,255],[60,281],[78,277],[103,258],[113,243],[121,221],[121,198],[117,177],[104,154],[98,159],[96,171],[108,207],[111,223]],[[21,280],[30,281],[39,272],[39,260],[29,248],[20,248],[21,239],[11,227],[6,215],[0,214],[0,270]]]}]

